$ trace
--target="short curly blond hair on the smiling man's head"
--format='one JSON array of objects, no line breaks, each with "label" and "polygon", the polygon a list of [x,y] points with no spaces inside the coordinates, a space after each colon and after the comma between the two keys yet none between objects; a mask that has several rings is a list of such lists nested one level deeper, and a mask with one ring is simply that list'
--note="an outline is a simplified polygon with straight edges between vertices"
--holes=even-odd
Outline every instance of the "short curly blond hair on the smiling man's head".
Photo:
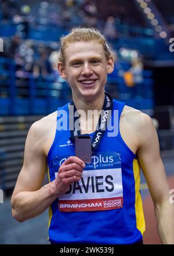
[{"label": "short curly blond hair on the smiling man's head", "polygon": [[103,45],[104,53],[106,59],[110,59],[111,57],[115,60],[115,54],[111,46],[108,44],[106,38],[99,30],[95,28],[86,28],[86,27],[75,27],[70,31],[70,34],[63,36],[60,38],[60,49],[58,54],[58,62],[61,62],[63,65],[65,64],[65,49],[67,44],[72,42],[99,42]]}]

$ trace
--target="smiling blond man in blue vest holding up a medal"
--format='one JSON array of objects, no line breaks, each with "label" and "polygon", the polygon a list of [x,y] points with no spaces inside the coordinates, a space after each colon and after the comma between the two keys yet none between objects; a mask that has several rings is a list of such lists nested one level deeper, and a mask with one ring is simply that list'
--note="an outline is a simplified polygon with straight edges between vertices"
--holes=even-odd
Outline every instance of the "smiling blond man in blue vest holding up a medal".
[{"label": "smiling blond man in blue vest holding up a medal", "polygon": [[[162,243],[172,244],[174,211],[157,133],[149,116],[104,93],[107,74],[113,69],[113,52],[99,31],[74,29],[61,38],[58,70],[71,86],[73,103],[31,126],[23,168],[12,195],[12,214],[23,222],[49,207],[52,243],[142,243],[141,166]],[[68,128],[60,129],[59,111],[68,116],[71,106],[86,113],[79,118],[81,135],[92,137],[92,161],[86,165],[75,157],[71,115]],[[88,116],[89,110],[97,111],[96,115]],[[94,119],[99,120],[98,127]],[[109,135],[106,120],[117,127],[114,136]],[[101,129],[102,122],[105,130]],[[50,183],[41,187],[46,165]]]}]

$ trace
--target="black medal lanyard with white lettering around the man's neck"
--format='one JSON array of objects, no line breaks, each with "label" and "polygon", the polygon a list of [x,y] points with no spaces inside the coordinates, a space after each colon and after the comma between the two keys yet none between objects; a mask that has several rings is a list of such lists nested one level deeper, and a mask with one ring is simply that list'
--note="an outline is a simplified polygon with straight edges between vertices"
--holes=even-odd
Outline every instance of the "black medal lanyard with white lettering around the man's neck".
[{"label": "black medal lanyard with white lettering around the man's neck", "polygon": [[[70,104],[71,106],[74,106],[74,113],[77,111],[77,109],[75,108],[74,102],[71,102]],[[103,108],[102,108],[102,113],[100,115],[99,118],[99,122],[97,127],[99,127],[99,129],[97,129],[95,131],[95,134],[92,138],[92,148],[93,150],[96,150],[99,147],[99,143],[100,140],[102,140],[102,137],[104,135],[104,131],[106,131],[106,125],[108,123],[108,121],[111,118],[111,111],[113,110],[113,99],[111,98],[111,96],[107,93],[105,93],[105,97],[104,97],[104,104],[103,104]],[[72,123],[72,118],[74,118],[74,123],[77,123],[77,120],[79,119],[79,116],[70,116],[69,119],[70,122]],[[75,136],[86,136],[88,134],[81,134],[80,129],[75,129],[75,127],[73,126],[74,130],[70,130],[71,133],[71,137],[70,139],[75,141],[74,137]]]}]

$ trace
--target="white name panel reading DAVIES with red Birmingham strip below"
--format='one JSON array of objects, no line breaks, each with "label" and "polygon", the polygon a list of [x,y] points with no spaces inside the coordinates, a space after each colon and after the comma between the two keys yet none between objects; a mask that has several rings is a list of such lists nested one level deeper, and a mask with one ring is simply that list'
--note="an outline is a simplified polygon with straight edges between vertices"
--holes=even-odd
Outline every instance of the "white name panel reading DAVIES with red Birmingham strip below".
[{"label": "white name panel reading DAVIES with red Birmingham strip below", "polygon": [[84,170],[59,197],[59,211],[103,211],[123,206],[121,168]]}]

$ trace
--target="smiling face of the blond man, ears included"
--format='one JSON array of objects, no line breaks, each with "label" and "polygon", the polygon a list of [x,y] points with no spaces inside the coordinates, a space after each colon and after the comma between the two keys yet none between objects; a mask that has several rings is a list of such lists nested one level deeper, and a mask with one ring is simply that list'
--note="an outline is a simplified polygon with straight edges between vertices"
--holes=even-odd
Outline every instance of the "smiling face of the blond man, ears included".
[{"label": "smiling face of the blond man, ears included", "polygon": [[106,59],[99,42],[69,43],[65,49],[65,64],[58,70],[67,79],[75,97],[93,97],[104,93],[107,73],[113,72],[113,58]]}]

